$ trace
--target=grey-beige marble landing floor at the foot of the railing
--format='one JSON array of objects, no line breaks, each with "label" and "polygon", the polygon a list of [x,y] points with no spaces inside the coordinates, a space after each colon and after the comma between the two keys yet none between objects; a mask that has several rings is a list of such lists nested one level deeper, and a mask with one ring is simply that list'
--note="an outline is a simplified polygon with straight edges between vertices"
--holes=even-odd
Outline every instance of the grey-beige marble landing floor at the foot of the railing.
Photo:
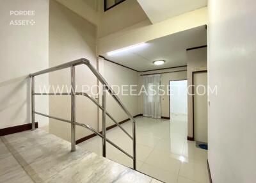
[{"label": "grey-beige marble landing floor at the foot of the railing", "polygon": [[0,182],[157,182],[43,130],[1,137]]}]

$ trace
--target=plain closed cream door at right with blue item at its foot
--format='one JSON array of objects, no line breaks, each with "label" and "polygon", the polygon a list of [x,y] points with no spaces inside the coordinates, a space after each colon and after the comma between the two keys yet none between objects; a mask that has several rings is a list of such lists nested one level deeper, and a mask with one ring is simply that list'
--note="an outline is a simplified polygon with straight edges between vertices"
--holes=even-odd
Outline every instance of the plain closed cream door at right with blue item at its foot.
[{"label": "plain closed cream door at right with blue item at its foot", "polygon": [[194,73],[195,140],[207,143],[207,72]]}]

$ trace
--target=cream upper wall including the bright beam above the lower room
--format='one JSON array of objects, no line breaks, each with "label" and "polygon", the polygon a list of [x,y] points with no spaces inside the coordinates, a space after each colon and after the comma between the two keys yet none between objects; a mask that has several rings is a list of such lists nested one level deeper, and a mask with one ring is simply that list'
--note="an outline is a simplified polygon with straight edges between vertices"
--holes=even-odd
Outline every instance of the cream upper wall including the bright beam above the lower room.
[{"label": "cream upper wall including the bright beam above the lower room", "polygon": [[106,12],[102,0],[57,1],[97,26],[99,55],[208,23],[207,7],[152,24],[136,0],[124,1]]}]

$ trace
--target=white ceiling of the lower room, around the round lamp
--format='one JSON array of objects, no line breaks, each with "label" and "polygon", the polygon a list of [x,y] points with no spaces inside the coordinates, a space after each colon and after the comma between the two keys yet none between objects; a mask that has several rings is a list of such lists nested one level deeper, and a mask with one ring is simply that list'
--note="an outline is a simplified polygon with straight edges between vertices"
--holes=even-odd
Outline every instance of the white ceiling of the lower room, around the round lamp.
[{"label": "white ceiling of the lower room, around the round lamp", "polygon": [[[187,51],[191,47],[207,45],[205,26],[188,29],[172,35],[151,40],[136,49],[119,52],[114,55],[102,54],[104,58],[138,71],[187,65]],[[154,65],[153,61],[164,60],[163,65]]]}]

